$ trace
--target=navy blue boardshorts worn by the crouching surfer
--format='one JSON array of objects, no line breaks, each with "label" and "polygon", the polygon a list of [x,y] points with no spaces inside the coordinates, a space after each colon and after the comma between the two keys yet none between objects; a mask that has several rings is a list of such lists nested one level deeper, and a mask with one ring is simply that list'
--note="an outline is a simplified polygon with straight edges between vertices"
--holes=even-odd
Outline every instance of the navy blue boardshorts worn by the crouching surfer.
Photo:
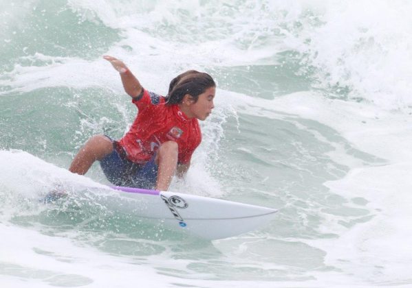
[{"label": "navy blue boardshorts worn by the crouching surfer", "polygon": [[113,152],[100,160],[100,167],[107,180],[116,186],[153,189],[158,179],[158,165],[155,164],[155,156],[145,164],[133,163],[126,158],[126,152],[118,144],[107,136],[113,143]]}]

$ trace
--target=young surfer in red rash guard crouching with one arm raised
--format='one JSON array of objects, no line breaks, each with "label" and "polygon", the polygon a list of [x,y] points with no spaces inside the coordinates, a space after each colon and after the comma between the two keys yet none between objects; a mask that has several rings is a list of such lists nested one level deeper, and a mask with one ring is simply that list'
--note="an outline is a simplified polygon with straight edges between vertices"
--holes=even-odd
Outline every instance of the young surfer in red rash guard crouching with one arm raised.
[{"label": "young surfer in red rash guard crouching with one arm raised", "polygon": [[210,75],[190,70],[175,77],[162,97],[144,89],[122,61],[104,58],[120,73],[138,115],[118,141],[105,135],[91,137],[69,170],[83,175],[99,160],[113,184],[166,191],[173,176],[184,176],[190,167],[202,141],[197,120],[212,112],[216,84]]}]

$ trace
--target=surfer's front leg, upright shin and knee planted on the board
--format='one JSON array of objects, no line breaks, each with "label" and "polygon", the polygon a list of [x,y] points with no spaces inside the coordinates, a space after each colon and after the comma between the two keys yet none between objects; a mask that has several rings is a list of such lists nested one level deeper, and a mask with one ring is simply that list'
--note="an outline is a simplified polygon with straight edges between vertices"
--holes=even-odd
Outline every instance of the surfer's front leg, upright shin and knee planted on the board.
[{"label": "surfer's front leg, upright shin and knee planted on the board", "polygon": [[167,191],[175,175],[179,146],[175,141],[166,141],[160,145],[155,163],[158,165],[158,180],[156,190]]}]

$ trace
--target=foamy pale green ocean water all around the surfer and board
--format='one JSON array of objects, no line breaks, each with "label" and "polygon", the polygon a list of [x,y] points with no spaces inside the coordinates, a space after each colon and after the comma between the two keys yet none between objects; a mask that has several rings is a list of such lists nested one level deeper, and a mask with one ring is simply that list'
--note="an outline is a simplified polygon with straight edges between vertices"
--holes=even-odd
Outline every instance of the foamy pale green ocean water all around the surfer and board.
[{"label": "foamy pale green ocean water all around the surfer and board", "polygon": [[[0,4],[1,287],[412,287],[411,1]],[[100,167],[67,167],[137,112],[103,55],[161,95],[213,75],[171,191],[277,217],[202,241],[98,204]]]}]

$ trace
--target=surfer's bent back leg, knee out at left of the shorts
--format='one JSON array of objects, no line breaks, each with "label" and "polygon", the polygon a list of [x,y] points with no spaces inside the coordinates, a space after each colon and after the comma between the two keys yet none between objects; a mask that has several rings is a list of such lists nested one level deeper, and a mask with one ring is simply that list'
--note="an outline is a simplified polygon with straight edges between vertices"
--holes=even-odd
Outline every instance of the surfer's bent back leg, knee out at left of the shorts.
[{"label": "surfer's bent back leg, knee out at left of the shorts", "polygon": [[113,152],[113,143],[105,135],[91,137],[86,144],[80,148],[74,157],[69,171],[84,175],[96,160],[102,160],[107,154]]}]

